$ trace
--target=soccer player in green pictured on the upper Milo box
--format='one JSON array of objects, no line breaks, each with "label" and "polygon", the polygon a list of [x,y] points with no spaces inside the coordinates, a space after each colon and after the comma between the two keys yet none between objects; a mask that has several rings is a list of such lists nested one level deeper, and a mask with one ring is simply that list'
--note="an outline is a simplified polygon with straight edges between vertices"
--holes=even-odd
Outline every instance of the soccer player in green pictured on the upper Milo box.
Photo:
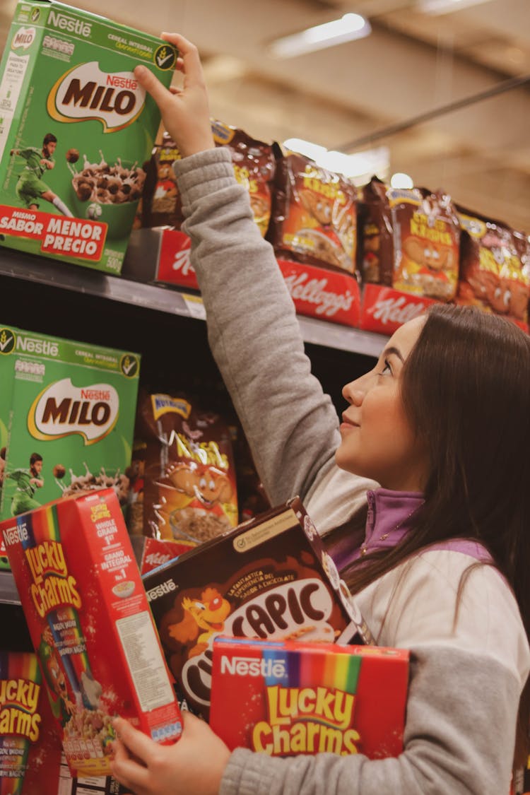
[{"label": "soccer player in green pictured on the upper Milo box", "polygon": [[24,207],[28,210],[38,210],[39,202],[44,199],[57,208],[63,215],[73,218],[72,212],[68,209],[64,201],[42,180],[46,170],[55,168],[53,154],[56,150],[57,139],[53,133],[44,135],[42,149],[35,146],[28,146],[25,149],[11,149],[11,154],[22,157],[25,167],[18,177],[16,192]]}]

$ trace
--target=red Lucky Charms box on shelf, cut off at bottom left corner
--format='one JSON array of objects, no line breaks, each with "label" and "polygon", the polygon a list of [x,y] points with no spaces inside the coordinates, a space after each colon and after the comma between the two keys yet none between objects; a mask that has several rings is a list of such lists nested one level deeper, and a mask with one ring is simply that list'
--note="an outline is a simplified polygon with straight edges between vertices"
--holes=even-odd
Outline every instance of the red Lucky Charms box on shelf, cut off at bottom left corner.
[{"label": "red Lucky Charms box on shelf, cut off at bottom left corner", "polygon": [[60,756],[37,655],[0,652],[0,795],[57,795]]}]

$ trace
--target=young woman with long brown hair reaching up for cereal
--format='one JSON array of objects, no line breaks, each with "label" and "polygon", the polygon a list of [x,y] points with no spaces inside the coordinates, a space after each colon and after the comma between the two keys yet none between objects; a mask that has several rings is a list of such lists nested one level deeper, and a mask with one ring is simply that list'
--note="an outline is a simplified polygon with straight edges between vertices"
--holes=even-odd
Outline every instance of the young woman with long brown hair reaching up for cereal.
[{"label": "young woman with long brown hair reaching up for cereal", "polygon": [[[411,650],[404,752],[230,754],[187,715],[173,747],[117,719],[114,774],[137,795],[508,795],[528,753],[530,341],[436,307],[346,384],[342,424],[310,372],[273,251],[211,139],[198,53],[175,95],[137,79],[176,165],[210,344],[271,502],[300,494],[382,646]],[[519,713],[519,719],[518,719]]]}]

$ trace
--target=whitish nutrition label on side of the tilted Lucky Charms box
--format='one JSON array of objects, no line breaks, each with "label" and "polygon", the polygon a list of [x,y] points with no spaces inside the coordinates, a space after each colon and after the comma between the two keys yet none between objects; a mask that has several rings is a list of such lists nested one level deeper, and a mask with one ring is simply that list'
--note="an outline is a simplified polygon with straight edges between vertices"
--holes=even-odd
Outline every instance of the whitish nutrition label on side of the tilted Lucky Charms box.
[{"label": "whitish nutrition label on side of the tilted Lucky Charms box", "polygon": [[161,650],[148,612],[118,619],[116,628],[126,654],[141,710],[149,712],[175,700],[172,686],[161,665]]}]

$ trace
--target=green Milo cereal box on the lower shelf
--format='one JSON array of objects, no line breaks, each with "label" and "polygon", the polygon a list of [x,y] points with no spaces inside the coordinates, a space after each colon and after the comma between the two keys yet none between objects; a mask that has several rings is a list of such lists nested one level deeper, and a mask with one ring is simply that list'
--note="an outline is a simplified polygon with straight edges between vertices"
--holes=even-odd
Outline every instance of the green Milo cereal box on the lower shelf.
[{"label": "green Milo cereal box on the lower shelf", "polygon": [[139,373],[135,353],[0,324],[0,520],[103,487],[125,509]]}]

